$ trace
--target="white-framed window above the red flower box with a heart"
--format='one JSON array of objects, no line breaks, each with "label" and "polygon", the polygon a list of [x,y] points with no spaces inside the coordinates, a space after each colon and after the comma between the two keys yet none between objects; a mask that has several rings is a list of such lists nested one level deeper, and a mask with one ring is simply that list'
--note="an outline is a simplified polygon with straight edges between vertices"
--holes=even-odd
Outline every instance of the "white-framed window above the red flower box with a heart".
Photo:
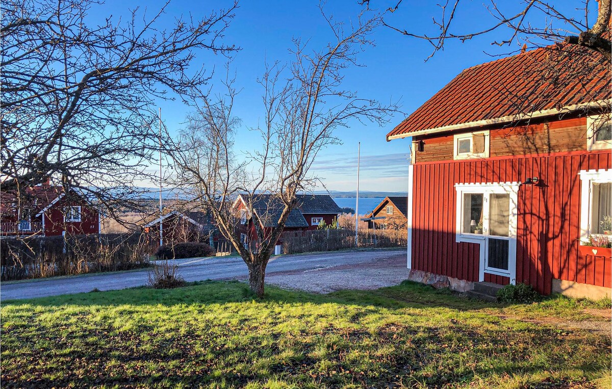
[{"label": "white-framed window above the red flower box with a heart", "polygon": [[612,169],[580,171],[580,241],[612,235]]}]

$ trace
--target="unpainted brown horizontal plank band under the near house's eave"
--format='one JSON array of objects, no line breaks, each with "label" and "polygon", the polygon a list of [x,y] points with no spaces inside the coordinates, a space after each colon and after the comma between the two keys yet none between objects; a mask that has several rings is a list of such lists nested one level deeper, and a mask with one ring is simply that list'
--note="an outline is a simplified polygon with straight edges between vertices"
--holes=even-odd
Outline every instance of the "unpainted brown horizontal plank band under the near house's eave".
[{"label": "unpainted brown horizontal plank band under the near house's eave", "polygon": [[[490,132],[490,157],[578,150],[586,150],[586,117]],[[449,160],[453,160],[452,135],[425,139],[424,151],[416,151],[415,163]]]}]

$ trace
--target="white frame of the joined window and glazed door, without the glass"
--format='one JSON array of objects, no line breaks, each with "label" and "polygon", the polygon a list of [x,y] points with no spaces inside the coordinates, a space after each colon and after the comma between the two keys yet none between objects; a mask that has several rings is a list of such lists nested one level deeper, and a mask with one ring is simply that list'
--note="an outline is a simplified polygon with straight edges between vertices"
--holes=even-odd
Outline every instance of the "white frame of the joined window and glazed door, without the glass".
[{"label": "white frame of the joined window and glazed door, without the glass", "polygon": [[[510,284],[517,282],[517,223],[518,223],[518,188],[520,182],[499,182],[499,183],[456,183],[456,221],[455,221],[455,241],[457,243],[478,243],[479,249],[479,281],[485,280],[485,273],[501,275],[510,278]],[[471,234],[462,232],[463,230],[463,198],[468,193],[482,193],[482,234]],[[489,198],[493,194],[510,195],[509,226],[508,236],[498,237],[489,235]],[[508,239],[508,270],[494,269],[487,267],[487,241],[489,237],[494,239]]]}]

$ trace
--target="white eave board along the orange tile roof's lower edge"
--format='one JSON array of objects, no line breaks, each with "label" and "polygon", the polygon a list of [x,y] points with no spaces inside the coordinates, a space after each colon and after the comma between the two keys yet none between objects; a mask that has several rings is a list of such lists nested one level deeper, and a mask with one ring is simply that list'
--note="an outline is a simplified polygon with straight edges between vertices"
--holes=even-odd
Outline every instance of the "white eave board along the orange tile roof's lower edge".
[{"label": "white eave board along the orange tile roof's lower edge", "polygon": [[387,136],[387,141],[390,141],[392,139],[408,138],[408,136],[435,134],[452,130],[462,130],[466,128],[480,127],[483,125],[508,124],[512,122],[517,122],[519,120],[532,119],[534,117],[552,116],[554,114],[569,113],[584,108],[610,108],[611,103],[612,98],[608,98],[603,100],[597,100],[595,102],[568,105],[562,108],[543,109],[542,111],[534,111],[531,113],[521,113],[510,116],[494,117],[493,119],[476,120],[474,122],[445,125],[444,127],[426,128],[424,130]]}]

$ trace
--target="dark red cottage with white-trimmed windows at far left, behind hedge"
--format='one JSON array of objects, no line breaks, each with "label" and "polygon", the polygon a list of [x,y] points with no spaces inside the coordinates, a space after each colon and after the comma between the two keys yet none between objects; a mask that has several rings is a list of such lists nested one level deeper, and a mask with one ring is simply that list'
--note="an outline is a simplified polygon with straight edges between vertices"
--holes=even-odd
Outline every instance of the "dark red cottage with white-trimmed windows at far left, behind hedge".
[{"label": "dark red cottage with white-trimmed windows at far left, behind hedge", "polygon": [[0,192],[0,235],[98,234],[100,213],[75,191],[49,182],[27,188],[21,199]]}]

